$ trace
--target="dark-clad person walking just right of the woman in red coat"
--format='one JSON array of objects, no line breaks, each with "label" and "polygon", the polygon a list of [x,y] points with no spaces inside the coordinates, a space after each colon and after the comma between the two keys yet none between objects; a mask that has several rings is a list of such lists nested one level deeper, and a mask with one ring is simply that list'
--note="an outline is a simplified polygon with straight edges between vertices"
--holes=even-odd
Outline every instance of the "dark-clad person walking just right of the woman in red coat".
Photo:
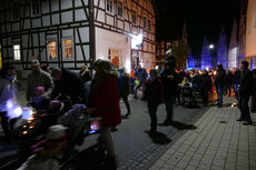
[{"label": "dark-clad person walking just right of the woman in red coat", "polygon": [[122,101],[126,104],[127,113],[126,116],[130,116],[130,104],[128,101],[128,96],[130,93],[130,78],[129,74],[126,73],[125,68],[120,69],[120,77],[122,79],[122,86],[120,89],[119,98],[122,99]]}]

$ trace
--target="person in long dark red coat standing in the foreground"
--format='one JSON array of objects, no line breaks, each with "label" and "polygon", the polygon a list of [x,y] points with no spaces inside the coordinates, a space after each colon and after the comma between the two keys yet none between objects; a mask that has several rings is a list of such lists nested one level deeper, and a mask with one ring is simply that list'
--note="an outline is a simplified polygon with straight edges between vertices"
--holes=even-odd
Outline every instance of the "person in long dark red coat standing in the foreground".
[{"label": "person in long dark red coat standing in the foreground", "polygon": [[121,112],[118,98],[118,84],[111,63],[101,60],[98,63],[95,79],[92,80],[92,98],[89,102],[89,111],[92,116],[102,118],[100,137],[107,144],[108,156],[115,160],[115,147],[111,128],[121,123]]}]

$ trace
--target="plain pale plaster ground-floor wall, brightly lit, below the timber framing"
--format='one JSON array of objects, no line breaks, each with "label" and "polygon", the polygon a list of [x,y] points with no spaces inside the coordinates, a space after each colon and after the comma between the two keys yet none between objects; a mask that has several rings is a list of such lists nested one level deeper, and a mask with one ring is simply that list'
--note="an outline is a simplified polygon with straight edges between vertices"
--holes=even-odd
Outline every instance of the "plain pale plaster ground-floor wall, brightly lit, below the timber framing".
[{"label": "plain pale plaster ground-floor wall, brightly lit, below the timber framing", "polygon": [[[130,69],[130,38],[120,33],[111,32],[100,28],[96,28],[96,60],[108,60],[108,49],[114,48],[121,50],[121,67]],[[129,68],[128,68],[129,67]]]}]

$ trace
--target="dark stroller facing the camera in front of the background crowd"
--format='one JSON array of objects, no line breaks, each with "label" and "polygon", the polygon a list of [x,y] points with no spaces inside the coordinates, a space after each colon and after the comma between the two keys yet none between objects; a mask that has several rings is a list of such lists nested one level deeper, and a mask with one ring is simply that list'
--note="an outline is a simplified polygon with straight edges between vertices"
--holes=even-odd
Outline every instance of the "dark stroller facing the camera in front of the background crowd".
[{"label": "dark stroller facing the camera in front of the background crowd", "polygon": [[181,86],[181,106],[194,107],[197,104],[196,91],[194,90],[191,82],[185,82]]}]

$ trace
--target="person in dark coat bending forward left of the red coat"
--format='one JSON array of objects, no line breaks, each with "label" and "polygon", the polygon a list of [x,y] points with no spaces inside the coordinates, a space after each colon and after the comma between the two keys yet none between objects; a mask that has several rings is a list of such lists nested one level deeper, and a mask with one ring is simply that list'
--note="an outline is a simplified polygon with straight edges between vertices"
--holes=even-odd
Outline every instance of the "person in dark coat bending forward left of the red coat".
[{"label": "person in dark coat bending forward left of the red coat", "polygon": [[86,88],[77,73],[67,69],[53,68],[51,76],[55,79],[51,99],[62,96],[69,97],[72,103],[86,102]]}]

